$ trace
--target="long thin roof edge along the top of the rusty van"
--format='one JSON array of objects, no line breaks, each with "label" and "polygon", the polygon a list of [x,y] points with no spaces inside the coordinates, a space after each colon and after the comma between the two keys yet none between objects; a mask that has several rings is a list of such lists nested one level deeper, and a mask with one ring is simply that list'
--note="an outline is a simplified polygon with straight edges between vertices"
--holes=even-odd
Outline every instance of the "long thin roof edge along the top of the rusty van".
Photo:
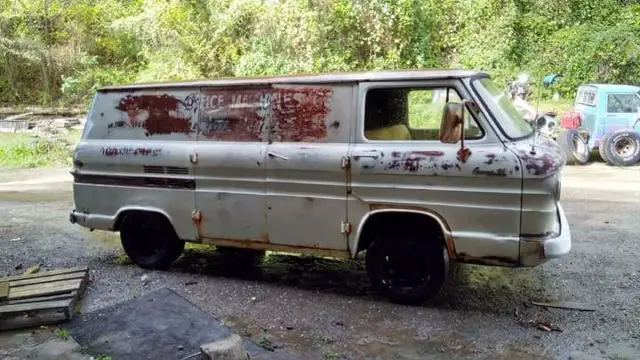
[{"label": "long thin roof edge along the top of the rusty van", "polygon": [[190,88],[206,86],[242,86],[262,84],[318,84],[318,83],[353,83],[363,81],[402,81],[442,78],[465,78],[474,75],[488,74],[481,71],[464,69],[420,69],[369,72],[342,72],[301,74],[293,76],[264,76],[264,77],[230,77],[211,80],[172,81],[157,83],[140,83],[130,85],[105,86],[99,91],[135,90],[153,88]]}]

